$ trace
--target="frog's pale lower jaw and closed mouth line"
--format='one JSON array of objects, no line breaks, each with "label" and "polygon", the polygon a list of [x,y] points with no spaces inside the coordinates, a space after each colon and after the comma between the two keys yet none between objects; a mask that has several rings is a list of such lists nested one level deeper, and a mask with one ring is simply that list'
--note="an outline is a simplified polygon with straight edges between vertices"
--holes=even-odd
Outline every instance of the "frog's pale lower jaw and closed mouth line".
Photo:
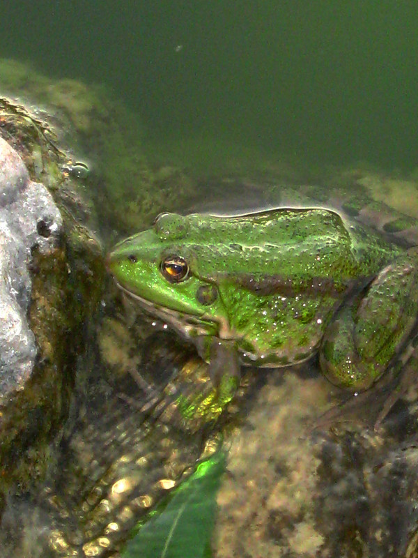
[{"label": "frog's pale lower jaw and closed mouth line", "polygon": [[120,283],[116,282],[118,288],[129,298],[134,299],[141,308],[146,310],[150,315],[156,316],[162,319],[172,326],[180,333],[183,333],[187,339],[193,339],[199,335],[217,335],[219,333],[219,324],[212,317],[202,315],[194,316],[192,314],[185,314],[184,312],[178,312],[178,310],[171,310],[171,308],[166,308],[160,306],[154,302],[150,302],[147,299],[142,298],[138,294],[134,294],[132,291],[125,289]]}]

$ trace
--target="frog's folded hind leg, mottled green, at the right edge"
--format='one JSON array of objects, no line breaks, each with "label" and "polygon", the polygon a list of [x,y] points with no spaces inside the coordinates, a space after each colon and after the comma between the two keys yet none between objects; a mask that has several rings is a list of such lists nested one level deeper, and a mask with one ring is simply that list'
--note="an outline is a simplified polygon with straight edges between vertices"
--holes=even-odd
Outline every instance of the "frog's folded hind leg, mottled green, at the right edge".
[{"label": "frog's folded hind leg, mottled green, at the right edge", "polygon": [[367,389],[398,355],[417,322],[418,248],[380,271],[325,332],[320,366],[333,384]]}]

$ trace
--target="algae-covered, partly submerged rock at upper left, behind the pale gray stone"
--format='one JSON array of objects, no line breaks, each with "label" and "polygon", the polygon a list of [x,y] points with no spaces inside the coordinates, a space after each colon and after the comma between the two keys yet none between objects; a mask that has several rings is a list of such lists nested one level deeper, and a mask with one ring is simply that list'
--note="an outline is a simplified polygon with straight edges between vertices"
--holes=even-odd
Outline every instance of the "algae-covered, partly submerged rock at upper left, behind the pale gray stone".
[{"label": "algae-covered, partly submerged rock at upper left, behind the pale gray stone", "polygon": [[[157,213],[175,211],[196,197],[196,183],[181,169],[150,165],[139,117],[104,87],[54,81],[10,60],[0,60],[0,82],[0,96],[5,96],[0,109],[8,112],[3,128],[13,128],[15,149],[27,146],[19,136],[32,128],[31,140],[38,144],[33,136],[43,136],[40,141],[46,138],[48,151],[57,156],[58,169],[51,169],[39,149],[26,150],[25,163],[38,179],[45,182],[45,174],[53,175],[49,186],[65,190],[61,171],[80,160],[86,163],[88,173],[75,181],[72,191],[91,203],[90,212],[95,208],[96,227],[105,240],[109,235],[112,242],[115,230],[132,234],[152,223]],[[24,107],[17,98],[24,99]]]}]

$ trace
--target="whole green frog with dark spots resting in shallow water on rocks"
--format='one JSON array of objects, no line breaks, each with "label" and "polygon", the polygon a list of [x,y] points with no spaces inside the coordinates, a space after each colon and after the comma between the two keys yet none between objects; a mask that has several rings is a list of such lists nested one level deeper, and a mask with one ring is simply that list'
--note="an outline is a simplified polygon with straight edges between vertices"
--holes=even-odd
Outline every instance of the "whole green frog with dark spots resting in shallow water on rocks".
[{"label": "whole green frog with dark spots resting in shallow water on rocks", "polygon": [[328,209],[163,213],[107,264],[118,286],[194,340],[211,375],[319,352],[330,381],[367,389],[418,315],[417,250]]}]

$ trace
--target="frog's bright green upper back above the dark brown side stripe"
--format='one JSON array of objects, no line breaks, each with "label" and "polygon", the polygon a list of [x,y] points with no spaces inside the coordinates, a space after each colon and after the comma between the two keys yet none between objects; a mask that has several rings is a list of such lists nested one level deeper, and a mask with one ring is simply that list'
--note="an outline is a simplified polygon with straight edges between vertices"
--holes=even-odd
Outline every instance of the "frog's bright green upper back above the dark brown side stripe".
[{"label": "frog's bright green upper back above the dark brown side stripe", "polygon": [[[375,273],[399,249],[330,209],[282,208],[243,216],[188,216],[201,276],[281,276],[346,282]],[[203,253],[204,252],[204,253]]]}]

